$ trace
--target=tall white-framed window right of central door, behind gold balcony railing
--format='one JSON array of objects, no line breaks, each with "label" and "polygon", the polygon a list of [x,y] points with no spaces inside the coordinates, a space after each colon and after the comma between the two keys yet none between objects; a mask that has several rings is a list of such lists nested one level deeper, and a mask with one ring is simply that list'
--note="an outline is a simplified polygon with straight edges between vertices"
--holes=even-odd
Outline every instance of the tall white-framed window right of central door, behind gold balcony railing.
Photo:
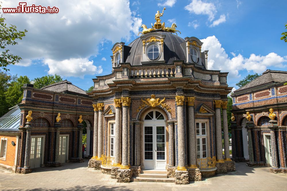
[{"label": "tall white-framed window right of central door, behind gold balcony railing", "polygon": [[[197,135],[197,128],[196,123],[199,123],[199,135]],[[205,135],[202,135],[202,126],[201,123],[205,123]],[[210,149],[209,149],[209,128],[208,128],[208,119],[207,120],[195,120],[195,136],[196,136],[196,157],[197,157],[197,139],[199,139],[199,145],[200,145],[200,158],[207,158],[210,155]],[[205,138],[205,152],[206,157],[203,157],[203,148],[202,148],[202,138]]]}]

